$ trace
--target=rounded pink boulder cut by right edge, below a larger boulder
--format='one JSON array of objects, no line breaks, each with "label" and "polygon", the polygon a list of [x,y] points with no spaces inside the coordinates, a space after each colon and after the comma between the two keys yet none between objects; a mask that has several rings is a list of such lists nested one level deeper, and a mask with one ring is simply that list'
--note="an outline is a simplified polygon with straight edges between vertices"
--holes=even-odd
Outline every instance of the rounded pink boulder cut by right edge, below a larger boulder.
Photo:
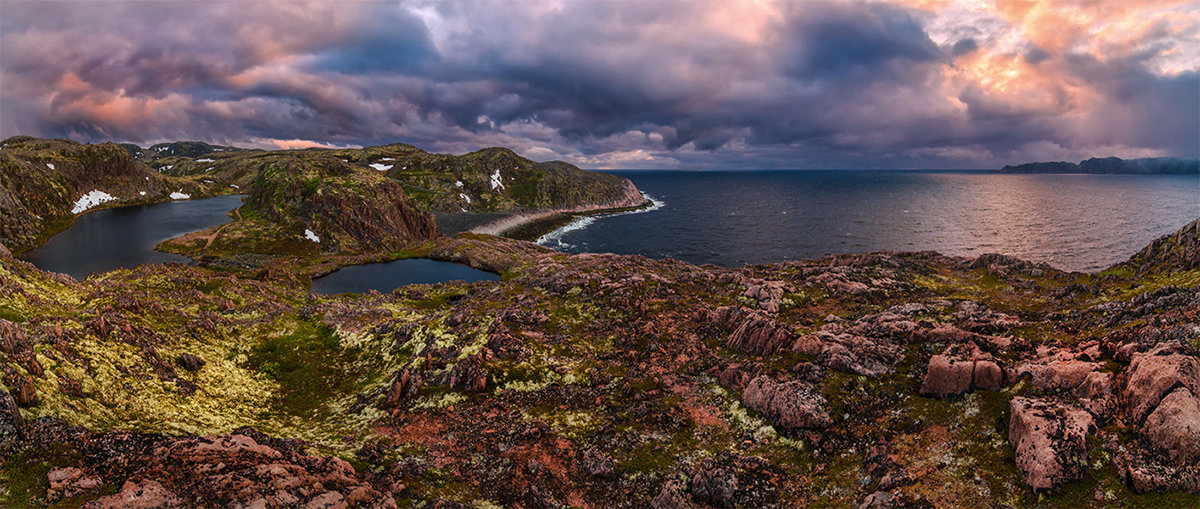
[{"label": "rounded pink boulder cut by right edge, below a larger boulder", "polygon": [[1151,412],[1142,433],[1177,466],[1200,462],[1200,401],[1186,388],[1171,391]]}]

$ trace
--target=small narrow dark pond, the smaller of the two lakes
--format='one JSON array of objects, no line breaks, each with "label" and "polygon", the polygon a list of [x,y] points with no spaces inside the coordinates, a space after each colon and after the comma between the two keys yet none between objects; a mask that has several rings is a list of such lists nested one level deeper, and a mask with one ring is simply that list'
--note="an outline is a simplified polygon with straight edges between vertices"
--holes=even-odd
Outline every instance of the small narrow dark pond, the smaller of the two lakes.
[{"label": "small narrow dark pond, the smaller of the two lakes", "polygon": [[432,285],[445,281],[499,281],[500,276],[467,265],[436,259],[409,258],[342,268],[312,280],[312,293],[391,292],[404,285]]}]

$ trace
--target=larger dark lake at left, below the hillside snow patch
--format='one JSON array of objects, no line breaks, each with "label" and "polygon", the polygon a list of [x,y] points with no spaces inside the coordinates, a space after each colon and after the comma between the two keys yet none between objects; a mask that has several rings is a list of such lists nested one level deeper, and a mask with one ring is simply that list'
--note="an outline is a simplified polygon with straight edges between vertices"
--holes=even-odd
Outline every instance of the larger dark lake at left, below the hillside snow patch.
[{"label": "larger dark lake at left, below the hillside snow patch", "polygon": [[221,196],[97,210],[84,214],[70,228],[20,258],[38,269],[76,279],[143,263],[187,262],[186,257],[158,252],[154,246],[230,221],[226,212],[241,206],[241,198]]}]

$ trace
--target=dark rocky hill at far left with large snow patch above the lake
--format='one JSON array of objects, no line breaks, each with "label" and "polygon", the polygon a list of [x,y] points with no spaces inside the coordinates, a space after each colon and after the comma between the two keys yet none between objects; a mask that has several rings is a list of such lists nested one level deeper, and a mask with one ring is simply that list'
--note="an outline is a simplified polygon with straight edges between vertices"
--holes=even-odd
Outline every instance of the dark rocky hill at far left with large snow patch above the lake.
[{"label": "dark rocky hill at far left with large snow patch above the lake", "polygon": [[103,143],[13,137],[0,142],[0,244],[22,250],[88,210],[200,196],[206,186],[160,175],[125,149]]}]

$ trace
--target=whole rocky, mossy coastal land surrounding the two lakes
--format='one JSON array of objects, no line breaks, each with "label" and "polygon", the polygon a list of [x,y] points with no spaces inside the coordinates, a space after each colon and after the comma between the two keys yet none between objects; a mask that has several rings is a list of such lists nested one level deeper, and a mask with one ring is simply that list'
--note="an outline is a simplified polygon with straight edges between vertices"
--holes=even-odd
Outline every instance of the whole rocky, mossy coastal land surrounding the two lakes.
[{"label": "whole rocky, mossy coastal land surrounding the two lakes", "polygon": [[[1093,274],[696,267],[470,232],[643,204],[504,149],[0,146],[6,507],[1198,502],[1200,221]],[[74,280],[12,254],[221,193],[246,194],[232,222],[160,245],[190,264]],[[503,280],[310,292],[412,257]]]}]

